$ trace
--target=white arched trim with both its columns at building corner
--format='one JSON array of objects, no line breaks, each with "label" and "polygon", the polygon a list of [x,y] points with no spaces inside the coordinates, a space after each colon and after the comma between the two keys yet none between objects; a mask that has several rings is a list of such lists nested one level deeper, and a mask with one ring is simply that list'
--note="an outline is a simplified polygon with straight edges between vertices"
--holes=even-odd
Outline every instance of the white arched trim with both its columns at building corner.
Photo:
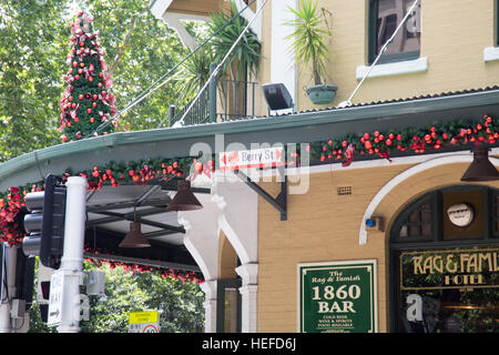
[{"label": "white arched trim with both its columns at building corner", "polygon": [[177,213],[185,229],[184,244],[200,266],[205,282],[205,332],[216,332],[216,283],[220,278],[220,232],[223,231],[242,265],[235,271],[242,278],[242,331],[256,332],[257,300],[257,216],[256,193],[232,173],[217,172],[211,180],[198,176],[193,186],[212,193],[196,194],[202,210]]}]

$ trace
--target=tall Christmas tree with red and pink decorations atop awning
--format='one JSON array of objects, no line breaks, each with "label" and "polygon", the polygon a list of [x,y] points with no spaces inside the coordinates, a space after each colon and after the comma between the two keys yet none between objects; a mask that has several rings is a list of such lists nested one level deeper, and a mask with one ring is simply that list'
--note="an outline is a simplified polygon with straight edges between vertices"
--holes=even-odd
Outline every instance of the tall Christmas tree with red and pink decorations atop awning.
[{"label": "tall Christmas tree with red and pink decorations atop awning", "polygon": [[112,81],[99,45],[99,32],[93,32],[92,21],[92,16],[80,12],[71,23],[71,53],[67,61],[70,69],[63,77],[68,87],[60,101],[62,142],[108,134],[116,124],[114,120],[96,132],[118,110],[110,92]]}]

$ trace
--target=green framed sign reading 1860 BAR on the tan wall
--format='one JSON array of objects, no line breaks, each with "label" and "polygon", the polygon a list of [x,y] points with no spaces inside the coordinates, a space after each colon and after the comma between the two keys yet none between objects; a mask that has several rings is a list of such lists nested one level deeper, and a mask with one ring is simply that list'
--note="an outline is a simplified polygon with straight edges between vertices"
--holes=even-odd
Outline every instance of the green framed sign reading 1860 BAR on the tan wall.
[{"label": "green framed sign reading 1860 BAR on the tan wall", "polygon": [[298,264],[298,332],[377,332],[376,260]]}]

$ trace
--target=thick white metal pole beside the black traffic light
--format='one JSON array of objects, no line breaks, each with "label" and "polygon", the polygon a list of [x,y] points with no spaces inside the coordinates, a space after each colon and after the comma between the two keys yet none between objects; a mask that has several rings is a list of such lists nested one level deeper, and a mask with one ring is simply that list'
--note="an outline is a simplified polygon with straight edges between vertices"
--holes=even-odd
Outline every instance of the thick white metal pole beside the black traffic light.
[{"label": "thick white metal pole beside the black traffic light", "polygon": [[61,267],[58,271],[63,275],[63,296],[61,324],[58,332],[78,333],[80,331],[80,284],[83,278],[86,179],[68,178],[65,186],[64,250]]}]

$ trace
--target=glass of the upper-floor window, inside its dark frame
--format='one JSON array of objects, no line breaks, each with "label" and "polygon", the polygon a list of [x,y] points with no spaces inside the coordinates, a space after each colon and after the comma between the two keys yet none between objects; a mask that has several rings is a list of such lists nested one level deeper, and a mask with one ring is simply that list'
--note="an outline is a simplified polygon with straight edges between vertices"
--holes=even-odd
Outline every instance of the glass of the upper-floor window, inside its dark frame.
[{"label": "glass of the upper-floor window, inside its dark frame", "polygon": [[[377,50],[379,53],[383,45],[394,34],[397,26],[413,6],[413,0],[378,0],[377,9]],[[413,10],[411,16],[400,28],[394,41],[388,45],[386,53],[400,53],[417,51],[420,47],[420,3]]]}]

